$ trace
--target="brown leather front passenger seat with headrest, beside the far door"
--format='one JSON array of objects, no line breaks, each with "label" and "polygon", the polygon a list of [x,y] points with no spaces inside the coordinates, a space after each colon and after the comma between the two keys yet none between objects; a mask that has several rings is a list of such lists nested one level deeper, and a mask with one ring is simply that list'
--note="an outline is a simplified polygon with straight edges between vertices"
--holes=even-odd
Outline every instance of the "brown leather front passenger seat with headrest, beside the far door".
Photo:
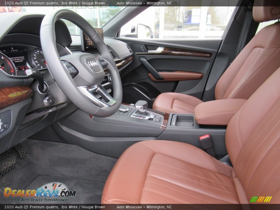
[{"label": "brown leather front passenger seat with headrest, beside the far door", "polygon": [[[255,0],[256,5],[269,5],[273,0]],[[270,4],[272,5],[272,3]],[[280,18],[275,6],[253,8],[256,22]],[[215,99],[248,99],[280,66],[280,23],[269,25],[256,34],[221,76],[215,89]],[[215,69],[213,70],[215,71]],[[165,113],[194,113],[200,99],[181,93],[162,93],[153,109]]]}]

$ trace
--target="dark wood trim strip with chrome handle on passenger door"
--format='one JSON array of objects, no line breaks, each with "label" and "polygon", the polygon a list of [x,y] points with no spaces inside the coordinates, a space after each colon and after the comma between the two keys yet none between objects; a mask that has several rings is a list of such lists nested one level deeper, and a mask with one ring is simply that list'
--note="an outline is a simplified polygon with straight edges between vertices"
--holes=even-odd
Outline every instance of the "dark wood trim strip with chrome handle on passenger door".
[{"label": "dark wood trim strip with chrome handle on passenger door", "polygon": [[192,57],[212,57],[212,53],[197,51],[197,50],[186,50],[180,48],[168,48],[164,47],[160,53],[136,53],[138,55],[174,55],[174,56],[192,56]]}]

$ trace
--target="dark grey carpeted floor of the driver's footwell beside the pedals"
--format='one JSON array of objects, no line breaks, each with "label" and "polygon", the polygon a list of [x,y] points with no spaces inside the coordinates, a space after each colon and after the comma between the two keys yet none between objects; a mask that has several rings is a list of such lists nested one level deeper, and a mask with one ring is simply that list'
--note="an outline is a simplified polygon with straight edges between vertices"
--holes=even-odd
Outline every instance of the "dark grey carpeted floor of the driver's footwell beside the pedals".
[{"label": "dark grey carpeted floor of the driver's footwell beside the pedals", "polygon": [[17,166],[0,178],[1,204],[19,203],[3,196],[6,187],[36,190],[51,182],[76,190],[76,197],[69,199],[68,204],[100,203],[104,183],[117,159],[64,143],[27,139],[21,145],[27,156],[17,158]]}]

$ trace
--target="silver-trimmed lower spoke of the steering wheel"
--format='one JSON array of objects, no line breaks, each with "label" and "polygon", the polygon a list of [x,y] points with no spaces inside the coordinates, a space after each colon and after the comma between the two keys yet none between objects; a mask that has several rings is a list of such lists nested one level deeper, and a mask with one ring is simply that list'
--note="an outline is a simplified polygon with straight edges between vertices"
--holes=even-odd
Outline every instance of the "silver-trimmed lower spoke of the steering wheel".
[{"label": "silver-trimmed lower spoke of the steering wheel", "polygon": [[101,84],[94,86],[78,86],[78,88],[82,94],[96,106],[112,107],[117,103]]}]

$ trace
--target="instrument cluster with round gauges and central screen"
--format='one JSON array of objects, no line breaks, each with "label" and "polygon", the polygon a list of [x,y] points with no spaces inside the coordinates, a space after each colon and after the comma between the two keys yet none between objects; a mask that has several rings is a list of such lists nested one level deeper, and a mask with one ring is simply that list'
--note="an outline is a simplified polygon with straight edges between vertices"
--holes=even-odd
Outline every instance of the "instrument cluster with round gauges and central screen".
[{"label": "instrument cluster with round gauges and central screen", "polygon": [[0,70],[7,76],[26,76],[27,69],[46,68],[43,51],[38,46],[10,44],[0,47]]}]

